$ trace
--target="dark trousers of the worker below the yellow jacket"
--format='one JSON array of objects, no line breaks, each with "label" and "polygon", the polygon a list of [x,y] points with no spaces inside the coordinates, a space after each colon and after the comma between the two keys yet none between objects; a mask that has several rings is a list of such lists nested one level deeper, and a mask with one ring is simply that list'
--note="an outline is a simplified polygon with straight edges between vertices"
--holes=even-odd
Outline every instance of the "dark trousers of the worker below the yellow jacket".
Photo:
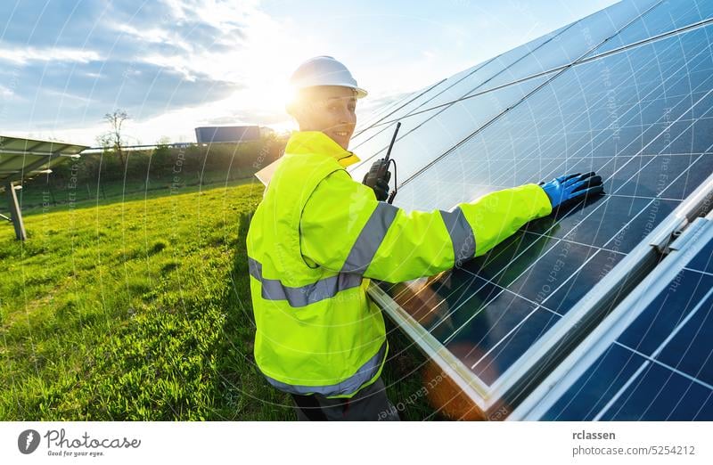
[{"label": "dark trousers of the worker below the yellow jacket", "polygon": [[351,398],[328,399],[321,394],[292,398],[300,421],[398,421],[398,412],[386,396],[381,377]]}]

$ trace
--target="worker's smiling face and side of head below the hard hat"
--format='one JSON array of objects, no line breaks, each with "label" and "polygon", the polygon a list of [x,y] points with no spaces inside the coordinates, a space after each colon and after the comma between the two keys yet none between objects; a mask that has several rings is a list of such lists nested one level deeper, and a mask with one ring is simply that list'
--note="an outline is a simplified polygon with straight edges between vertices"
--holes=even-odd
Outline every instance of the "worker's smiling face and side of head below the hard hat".
[{"label": "worker's smiling face and side of head below the hard hat", "polygon": [[356,126],[356,91],[343,86],[307,87],[289,108],[300,131],[321,131],[347,150]]}]

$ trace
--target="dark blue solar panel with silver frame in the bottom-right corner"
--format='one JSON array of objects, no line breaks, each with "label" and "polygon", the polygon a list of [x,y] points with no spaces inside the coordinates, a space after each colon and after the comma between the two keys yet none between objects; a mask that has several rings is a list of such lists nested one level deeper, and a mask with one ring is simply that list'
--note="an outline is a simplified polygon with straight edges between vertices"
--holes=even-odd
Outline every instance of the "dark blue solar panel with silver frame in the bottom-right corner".
[{"label": "dark blue solar panel with silver frame in the bottom-right corner", "polygon": [[713,420],[712,220],[697,218],[512,420]]}]

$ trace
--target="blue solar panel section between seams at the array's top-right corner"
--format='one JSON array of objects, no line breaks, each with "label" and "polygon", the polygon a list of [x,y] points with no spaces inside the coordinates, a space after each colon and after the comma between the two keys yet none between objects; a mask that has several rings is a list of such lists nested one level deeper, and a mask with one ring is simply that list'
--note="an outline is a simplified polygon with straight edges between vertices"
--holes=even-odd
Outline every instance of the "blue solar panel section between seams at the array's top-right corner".
[{"label": "blue solar panel section between seams at the array's top-right corner", "polygon": [[710,18],[713,18],[713,2],[710,0],[665,0],[618,35],[611,37],[591,55],[609,52]]}]

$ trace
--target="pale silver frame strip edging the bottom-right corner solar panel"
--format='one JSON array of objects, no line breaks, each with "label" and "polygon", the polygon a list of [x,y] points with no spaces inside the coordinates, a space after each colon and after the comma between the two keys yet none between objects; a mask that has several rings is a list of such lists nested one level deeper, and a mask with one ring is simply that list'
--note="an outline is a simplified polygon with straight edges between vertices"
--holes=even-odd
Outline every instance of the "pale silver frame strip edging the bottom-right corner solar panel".
[{"label": "pale silver frame strip edging the bottom-right corner solar panel", "polygon": [[507,420],[541,419],[709,241],[713,241],[713,211],[705,218],[695,218],[672,242],[671,253],[512,411]]}]

